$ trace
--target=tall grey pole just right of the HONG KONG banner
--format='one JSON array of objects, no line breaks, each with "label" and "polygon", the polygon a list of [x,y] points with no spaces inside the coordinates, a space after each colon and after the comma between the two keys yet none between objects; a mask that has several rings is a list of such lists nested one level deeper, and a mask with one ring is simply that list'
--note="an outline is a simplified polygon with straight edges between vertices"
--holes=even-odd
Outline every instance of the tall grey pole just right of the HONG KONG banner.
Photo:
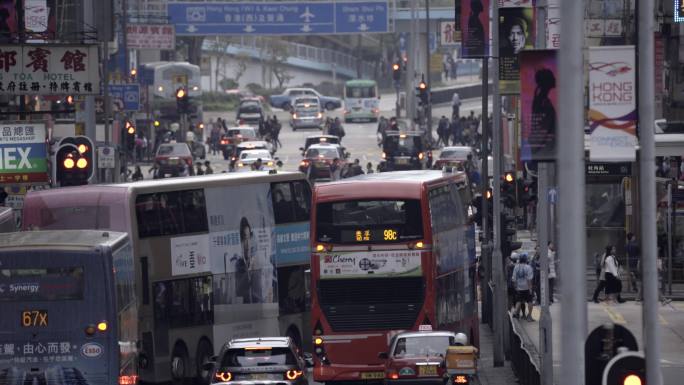
[{"label": "tall grey pole just right of the HONG KONG banner", "polygon": [[[646,382],[661,385],[660,323],[658,321],[658,246],[656,237],[654,1],[638,6],[638,108],[639,108],[639,199],[641,200],[641,266],[643,286],[642,327],[646,356]],[[562,128],[561,128],[562,129]]]}]

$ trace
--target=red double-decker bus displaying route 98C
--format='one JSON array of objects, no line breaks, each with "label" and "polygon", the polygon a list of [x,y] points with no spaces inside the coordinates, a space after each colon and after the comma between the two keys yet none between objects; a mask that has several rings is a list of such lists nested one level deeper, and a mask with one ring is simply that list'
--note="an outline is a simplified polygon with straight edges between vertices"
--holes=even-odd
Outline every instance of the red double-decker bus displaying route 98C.
[{"label": "red double-decker bus displaying route 98C", "polygon": [[479,345],[474,225],[464,173],[403,171],[316,186],[311,220],[314,379],[382,381],[406,330]]}]

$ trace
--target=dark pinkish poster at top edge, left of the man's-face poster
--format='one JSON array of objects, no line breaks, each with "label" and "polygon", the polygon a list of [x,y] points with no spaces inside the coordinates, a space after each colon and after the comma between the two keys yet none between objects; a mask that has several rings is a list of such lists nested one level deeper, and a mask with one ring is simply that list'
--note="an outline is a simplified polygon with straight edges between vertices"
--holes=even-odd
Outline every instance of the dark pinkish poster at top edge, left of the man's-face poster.
[{"label": "dark pinkish poster at top edge, left of the man's-face poster", "polygon": [[489,0],[461,0],[461,57],[489,55]]}]

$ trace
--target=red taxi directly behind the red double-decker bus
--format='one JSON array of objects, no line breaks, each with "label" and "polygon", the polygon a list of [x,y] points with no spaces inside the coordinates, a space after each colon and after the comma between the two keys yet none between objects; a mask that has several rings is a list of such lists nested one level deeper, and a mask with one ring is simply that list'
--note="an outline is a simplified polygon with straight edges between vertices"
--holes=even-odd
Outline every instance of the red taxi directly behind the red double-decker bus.
[{"label": "red taxi directly behind the red double-decker bus", "polygon": [[395,335],[390,341],[389,352],[378,355],[385,360],[385,385],[444,385],[449,378],[444,357],[449,346],[456,344],[456,333],[450,331],[426,330]]}]

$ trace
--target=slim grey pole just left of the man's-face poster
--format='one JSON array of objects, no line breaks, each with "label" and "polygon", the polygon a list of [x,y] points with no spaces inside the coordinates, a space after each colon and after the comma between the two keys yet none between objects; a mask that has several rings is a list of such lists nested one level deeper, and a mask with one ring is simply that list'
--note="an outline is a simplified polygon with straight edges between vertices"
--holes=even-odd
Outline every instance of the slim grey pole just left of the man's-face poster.
[{"label": "slim grey pole just left of the man's-face poster", "polygon": [[494,249],[492,251],[492,288],[494,291],[494,366],[504,365],[504,328],[506,323],[506,278],[501,254],[501,95],[499,94],[499,3],[492,1],[492,173]]}]

